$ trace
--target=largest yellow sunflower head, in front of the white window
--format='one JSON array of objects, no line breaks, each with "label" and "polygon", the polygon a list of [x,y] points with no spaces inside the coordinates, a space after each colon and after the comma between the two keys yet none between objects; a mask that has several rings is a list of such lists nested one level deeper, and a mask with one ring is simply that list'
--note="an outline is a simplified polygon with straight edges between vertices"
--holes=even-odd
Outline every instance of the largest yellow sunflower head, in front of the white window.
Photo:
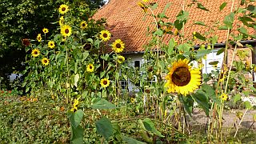
[{"label": "largest yellow sunflower head, in front of the white window", "polygon": [[178,94],[189,94],[198,88],[201,84],[201,73],[198,69],[191,69],[188,65],[189,60],[179,59],[173,62],[169,73],[166,75],[166,87],[168,92],[177,92]]}]

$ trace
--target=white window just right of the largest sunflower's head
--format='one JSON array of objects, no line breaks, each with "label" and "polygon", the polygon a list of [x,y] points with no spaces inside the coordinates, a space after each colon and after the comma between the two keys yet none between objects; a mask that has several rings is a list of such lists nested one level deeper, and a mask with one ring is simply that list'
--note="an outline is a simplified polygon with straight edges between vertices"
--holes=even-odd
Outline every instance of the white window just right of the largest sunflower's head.
[{"label": "white window just right of the largest sunflower's head", "polygon": [[217,55],[217,51],[218,50],[213,50],[210,54],[207,54],[206,59],[202,59],[202,64],[204,65],[202,67],[202,74],[209,74],[214,70],[214,66],[210,65],[209,62],[218,61],[216,70],[221,70],[224,53]]}]

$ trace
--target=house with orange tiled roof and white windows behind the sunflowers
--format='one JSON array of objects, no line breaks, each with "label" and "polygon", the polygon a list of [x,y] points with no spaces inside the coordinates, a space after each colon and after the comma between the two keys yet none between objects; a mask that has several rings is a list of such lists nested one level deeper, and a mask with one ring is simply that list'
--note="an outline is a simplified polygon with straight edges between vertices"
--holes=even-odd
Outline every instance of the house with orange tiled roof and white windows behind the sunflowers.
[{"label": "house with orange tiled roof and white windows behind the sunflowers", "polygon": [[[103,6],[96,14],[94,14],[94,18],[106,18],[106,30],[109,30],[114,39],[121,38],[123,42],[126,44],[125,52],[126,58],[132,59],[132,65],[141,66],[144,62],[142,58],[142,54],[144,53],[143,45],[149,42],[150,38],[146,37],[147,26],[150,26],[151,22],[154,22],[153,18],[150,16],[146,16],[140,6],[138,6],[138,0],[110,0],[106,6]],[[230,14],[230,8],[232,6],[231,1],[227,1],[226,6],[222,11],[219,10],[219,6],[222,5],[223,0],[214,0],[214,1],[200,1],[202,6],[205,6],[206,10],[201,10],[197,8],[197,4],[194,4],[191,7],[188,5],[191,2],[195,1],[181,1],[181,0],[150,0],[150,2],[157,2],[158,8],[154,10],[157,14],[161,12],[166,6],[167,2],[170,2],[170,7],[166,10],[166,16],[168,17],[168,22],[174,22],[176,20],[176,16],[182,10],[182,2],[186,2],[185,10],[189,11],[189,20],[185,25],[185,38],[193,38],[193,32],[197,31],[200,34],[206,33],[210,28],[208,26],[213,26],[214,22],[223,22],[223,19],[227,14]],[[251,2],[251,5],[255,6],[256,2]],[[234,10],[240,6],[240,2],[234,2]],[[204,22],[206,26],[194,25],[194,22]],[[234,20],[234,25],[238,23],[238,19]],[[235,25],[236,26],[236,25]],[[255,35],[254,29],[249,29],[250,34]],[[202,69],[202,73],[207,74],[213,69],[213,66],[209,65],[209,62],[218,61],[218,67],[221,66],[223,61],[223,54],[217,55],[217,51],[219,48],[225,47],[226,45],[226,36],[227,30],[218,30],[215,28],[214,34],[218,36],[218,42],[214,45],[214,50],[207,55],[206,60],[203,61],[204,67]],[[170,34],[166,34],[164,38],[168,41],[171,37]],[[241,41],[243,46],[246,44],[250,44],[254,46],[254,50],[256,50],[256,40],[253,38],[244,39]],[[200,45],[207,45],[207,43],[196,41],[195,49]],[[246,61],[250,63],[256,64],[256,56],[252,50],[249,48],[238,48],[238,50],[246,50],[247,58]],[[228,58],[227,64],[230,63],[232,58],[233,51],[232,49],[228,50]],[[237,59],[238,57],[236,57]],[[256,82],[256,75],[248,75],[248,78],[253,78]],[[129,85],[125,82],[123,85]],[[130,89],[133,86],[130,86]]]}]

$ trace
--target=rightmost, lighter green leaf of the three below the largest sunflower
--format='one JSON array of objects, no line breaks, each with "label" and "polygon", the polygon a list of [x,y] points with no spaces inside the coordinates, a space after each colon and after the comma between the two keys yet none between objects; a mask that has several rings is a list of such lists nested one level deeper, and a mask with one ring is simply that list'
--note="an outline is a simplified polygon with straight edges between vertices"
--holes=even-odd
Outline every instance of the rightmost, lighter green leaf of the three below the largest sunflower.
[{"label": "rightmost, lighter green leaf of the three below the largest sunflower", "polygon": [[221,102],[218,97],[216,97],[215,90],[212,86],[207,84],[202,84],[202,91],[206,94],[208,98],[210,98],[212,101],[217,103],[218,105],[221,105]]}]

